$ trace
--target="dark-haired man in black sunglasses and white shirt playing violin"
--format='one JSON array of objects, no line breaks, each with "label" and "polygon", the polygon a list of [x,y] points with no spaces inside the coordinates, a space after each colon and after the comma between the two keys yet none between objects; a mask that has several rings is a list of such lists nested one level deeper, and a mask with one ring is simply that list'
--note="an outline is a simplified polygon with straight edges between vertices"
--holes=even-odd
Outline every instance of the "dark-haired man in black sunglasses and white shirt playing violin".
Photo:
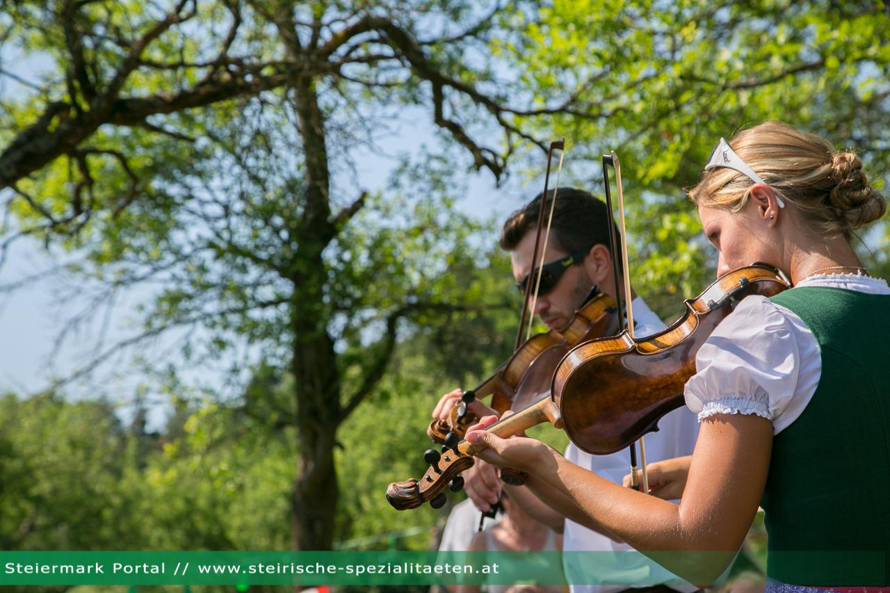
[{"label": "dark-haired man in black sunglasses and white shirt playing violin", "polygon": [[[541,196],[538,196],[510,215],[501,233],[500,245],[510,252],[514,278],[517,287],[523,293],[525,284],[529,281],[534,288],[538,274],[537,269],[532,272],[532,255],[535,248],[540,199]],[[550,199],[553,199],[552,194],[548,198],[548,204]],[[537,314],[547,327],[558,329],[565,326],[581,305],[600,292],[615,297],[608,221],[609,215],[605,203],[587,191],[561,188],[556,192],[550,236],[544,251],[544,265],[540,271],[538,297],[534,308],[534,314]],[[546,220],[544,222],[546,228]],[[541,244],[543,245],[543,240]],[[632,297],[637,337],[649,336],[665,328],[665,324],[651,312],[641,297],[635,294],[632,294]],[[461,391],[457,389],[444,395],[433,415],[436,418],[447,418],[460,394]],[[492,413],[481,402],[473,402],[470,410],[480,418]],[[648,462],[673,459],[692,452],[698,436],[698,422],[692,412],[680,408],[669,413],[659,421],[659,429],[657,433],[646,435]],[[619,484],[629,467],[627,451],[593,456],[580,451],[572,443],[565,451],[565,458]],[[457,522],[473,526],[478,524],[481,511],[488,510],[495,504],[500,492],[506,487],[511,499],[516,501],[527,514],[551,527],[555,532],[562,532],[564,551],[599,552],[595,555],[585,555],[583,566],[577,562],[578,555],[565,556],[565,572],[570,582],[620,583],[572,584],[570,586],[572,593],[617,593],[634,587],[647,588],[646,593],[670,589],[667,586],[660,586],[662,583],[668,583],[673,589],[683,591],[696,589],[677,584],[676,577],[645,560],[642,555],[629,558],[627,550],[630,548],[623,542],[612,540],[609,534],[591,531],[573,521],[573,517],[578,521],[583,520],[582,516],[578,515],[574,503],[546,484],[536,483],[533,477],[524,486],[506,486],[499,479],[494,467],[477,459],[475,465],[464,473],[464,478],[469,499],[481,510],[476,511],[474,518],[471,516],[458,519],[452,514],[446,527],[447,534],[449,530],[452,533],[458,531],[457,525],[454,524]],[[468,511],[465,513],[469,515]],[[468,527],[465,531],[469,531],[472,535],[473,527]],[[443,537],[443,544],[451,549],[458,549],[453,541],[446,543],[444,540]],[[468,543],[469,539],[466,540],[466,544]],[[653,585],[659,585],[659,589],[651,589]]]}]

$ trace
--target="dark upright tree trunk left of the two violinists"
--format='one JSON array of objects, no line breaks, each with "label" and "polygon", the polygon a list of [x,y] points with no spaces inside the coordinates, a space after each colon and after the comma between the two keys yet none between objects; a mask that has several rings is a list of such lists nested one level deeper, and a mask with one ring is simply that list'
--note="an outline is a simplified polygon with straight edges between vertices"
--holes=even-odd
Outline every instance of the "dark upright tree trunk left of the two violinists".
[{"label": "dark upright tree trunk left of the two violinists", "polygon": [[327,271],[321,253],[334,237],[329,222],[328,155],[324,117],[314,81],[294,87],[300,134],[306,155],[299,255],[294,281],[294,377],[299,451],[291,522],[295,550],[327,550],[333,543],[338,486],[334,467],[336,428],[340,423],[340,377],[334,341],[328,336],[328,308],[323,287]]}]

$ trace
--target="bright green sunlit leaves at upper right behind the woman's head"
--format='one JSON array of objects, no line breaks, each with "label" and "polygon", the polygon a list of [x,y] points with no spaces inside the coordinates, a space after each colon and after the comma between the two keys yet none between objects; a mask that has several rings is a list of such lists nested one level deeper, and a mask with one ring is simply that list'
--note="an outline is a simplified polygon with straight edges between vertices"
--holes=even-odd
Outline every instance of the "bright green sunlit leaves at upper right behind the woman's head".
[{"label": "bright green sunlit leaves at upper right behind the woman's head", "polygon": [[[532,134],[567,139],[570,183],[602,192],[622,165],[635,288],[664,318],[713,279],[684,188],[721,136],[777,119],[852,147],[890,181],[890,12],[878,0],[517,3],[492,52]],[[612,175],[614,191],[614,175]],[[870,269],[890,272],[886,225]]]}]

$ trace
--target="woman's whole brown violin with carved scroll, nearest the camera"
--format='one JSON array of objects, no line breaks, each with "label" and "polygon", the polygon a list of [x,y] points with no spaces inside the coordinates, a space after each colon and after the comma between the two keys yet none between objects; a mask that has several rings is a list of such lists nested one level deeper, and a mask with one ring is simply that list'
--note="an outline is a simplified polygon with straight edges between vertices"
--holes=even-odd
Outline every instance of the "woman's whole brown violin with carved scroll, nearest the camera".
[{"label": "woman's whole brown violin with carved scroll, nearest the camera", "polygon": [[[765,264],[724,274],[699,296],[684,301],[683,316],[654,336],[635,339],[626,330],[618,337],[576,346],[557,366],[549,398],[487,430],[507,438],[550,422],[564,429],[582,451],[620,451],[657,431],[659,419],[684,404],[683,389],[695,373],[695,355],[734,304],[745,296],[773,296],[790,287],[781,271]],[[425,501],[440,508],[445,487],[460,490],[463,479],[458,474],[473,466],[473,455],[482,449],[484,445],[460,441],[439,459],[427,459],[431,466],[419,481],[391,483],[386,500],[398,510]]]}]

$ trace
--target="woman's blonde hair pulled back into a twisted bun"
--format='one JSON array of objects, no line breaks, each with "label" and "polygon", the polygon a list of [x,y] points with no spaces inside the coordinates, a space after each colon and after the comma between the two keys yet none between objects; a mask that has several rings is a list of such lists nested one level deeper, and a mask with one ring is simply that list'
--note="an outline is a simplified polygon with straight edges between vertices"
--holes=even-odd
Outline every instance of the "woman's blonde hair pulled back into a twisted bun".
[{"label": "woman's blonde hair pulled back into a twisted bun", "polygon": [[[846,240],[863,224],[878,220],[886,202],[862,171],[862,161],[848,150],[835,150],[816,134],[798,132],[770,121],[743,130],[732,150],[811,223],[813,230]],[[696,206],[738,212],[748,204],[754,182],[730,168],[705,171],[689,197]]]}]

